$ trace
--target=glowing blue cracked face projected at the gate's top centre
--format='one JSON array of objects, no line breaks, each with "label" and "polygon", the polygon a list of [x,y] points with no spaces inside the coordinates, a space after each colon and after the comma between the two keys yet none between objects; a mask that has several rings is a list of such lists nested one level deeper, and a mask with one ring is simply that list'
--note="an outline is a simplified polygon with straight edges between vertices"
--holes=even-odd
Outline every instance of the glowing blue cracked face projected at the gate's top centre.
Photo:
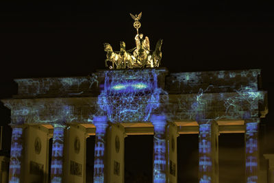
[{"label": "glowing blue cracked face projected at the gate's top centre", "polygon": [[157,77],[154,69],[106,71],[99,111],[111,122],[148,121],[160,105]]}]

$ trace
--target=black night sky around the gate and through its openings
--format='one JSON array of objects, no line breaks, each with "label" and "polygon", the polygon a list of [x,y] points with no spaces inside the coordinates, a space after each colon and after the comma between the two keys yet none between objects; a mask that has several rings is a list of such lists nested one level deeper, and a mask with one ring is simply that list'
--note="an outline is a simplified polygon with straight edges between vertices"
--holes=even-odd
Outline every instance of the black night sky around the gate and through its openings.
[{"label": "black night sky around the gate and through its openings", "polygon": [[[163,38],[170,72],[262,69],[269,114],[260,125],[260,154],[274,153],[274,3],[267,1],[1,1],[0,98],[16,94],[14,78],[84,76],[105,69],[103,42],[135,47],[129,16],[142,12],[140,33],[151,49]],[[0,104],[3,150],[10,149],[10,111]],[[178,182],[197,182],[198,135],[178,141]],[[88,138],[92,164],[94,138]],[[244,134],[219,136],[222,183],[244,180]],[[125,138],[126,182],[151,182],[153,136]],[[87,155],[88,155],[87,154]],[[264,164],[265,162],[262,162]],[[92,165],[90,165],[92,167]]]}]

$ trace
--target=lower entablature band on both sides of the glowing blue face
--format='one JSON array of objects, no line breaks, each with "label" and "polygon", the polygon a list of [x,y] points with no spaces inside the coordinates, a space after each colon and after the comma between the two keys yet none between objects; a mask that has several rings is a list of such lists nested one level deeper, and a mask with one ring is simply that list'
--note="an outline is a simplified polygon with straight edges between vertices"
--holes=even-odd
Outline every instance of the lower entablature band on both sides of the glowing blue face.
[{"label": "lower entablature band on both sides of the glowing blue face", "polygon": [[[101,114],[97,97],[3,99],[2,102],[12,111],[12,123],[21,123],[22,120],[41,124],[58,121],[92,123],[93,116]],[[149,102],[144,104],[144,108]],[[210,120],[242,120],[247,112],[251,117],[264,117],[263,114],[267,113],[265,91],[160,95],[158,104],[160,107],[154,112],[164,112],[168,121],[195,121],[201,112]],[[114,112],[119,115],[119,110]],[[129,121],[112,123],[140,122],[130,117],[127,119]]]}]

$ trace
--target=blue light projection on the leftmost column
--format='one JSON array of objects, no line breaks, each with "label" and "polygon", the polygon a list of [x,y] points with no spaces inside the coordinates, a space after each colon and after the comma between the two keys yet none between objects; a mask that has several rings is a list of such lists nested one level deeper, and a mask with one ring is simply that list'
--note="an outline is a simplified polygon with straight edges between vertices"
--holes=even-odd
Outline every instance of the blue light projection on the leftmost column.
[{"label": "blue light projection on the leftmost column", "polygon": [[10,149],[10,181],[9,183],[19,183],[21,176],[21,155],[23,150],[22,140],[23,129],[14,127],[12,129],[12,145]]}]

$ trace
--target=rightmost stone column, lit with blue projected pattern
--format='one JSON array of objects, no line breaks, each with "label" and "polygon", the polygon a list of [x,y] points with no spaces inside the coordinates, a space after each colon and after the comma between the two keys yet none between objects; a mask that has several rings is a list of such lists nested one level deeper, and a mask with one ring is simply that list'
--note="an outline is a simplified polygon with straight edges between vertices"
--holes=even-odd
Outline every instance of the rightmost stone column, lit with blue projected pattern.
[{"label": "rightmost stone column, lit with blue projected pattern", "polygon": [[258,126],[260,119],[245,120],[245,182],[258,182]]}]

